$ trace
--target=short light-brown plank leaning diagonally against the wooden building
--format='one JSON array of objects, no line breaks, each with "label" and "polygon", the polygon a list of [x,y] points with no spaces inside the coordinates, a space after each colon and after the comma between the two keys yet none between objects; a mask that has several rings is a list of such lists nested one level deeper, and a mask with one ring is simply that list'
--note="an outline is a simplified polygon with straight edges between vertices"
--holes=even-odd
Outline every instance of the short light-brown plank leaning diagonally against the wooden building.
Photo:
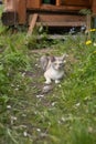
[{"label": "short light-brown plank leaning diagonally against the wooden building", "polygon": [[32,20],[30,22],[30,27],[29,27],[29,30],[28,30],[28,35],[32,34],[33,29],[34,29],[35,23],[36,23],[36,20],[38,20],[38,13],[34,13],[33,17],[32,17]]}]

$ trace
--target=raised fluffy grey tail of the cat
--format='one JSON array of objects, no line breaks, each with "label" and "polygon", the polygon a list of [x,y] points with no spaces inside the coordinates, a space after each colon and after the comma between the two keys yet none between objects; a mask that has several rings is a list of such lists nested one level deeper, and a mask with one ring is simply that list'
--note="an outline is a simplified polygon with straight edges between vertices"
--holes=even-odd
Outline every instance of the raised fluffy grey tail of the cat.
[{"label": "raised fluffy grey tail of the cat", "polygon": [[49,64],[49,56],[47,55],[43,55],[40,59],[40,63],[41,63],[41,68],[43,69],[43,71],[46,71],[47,64]]}]

